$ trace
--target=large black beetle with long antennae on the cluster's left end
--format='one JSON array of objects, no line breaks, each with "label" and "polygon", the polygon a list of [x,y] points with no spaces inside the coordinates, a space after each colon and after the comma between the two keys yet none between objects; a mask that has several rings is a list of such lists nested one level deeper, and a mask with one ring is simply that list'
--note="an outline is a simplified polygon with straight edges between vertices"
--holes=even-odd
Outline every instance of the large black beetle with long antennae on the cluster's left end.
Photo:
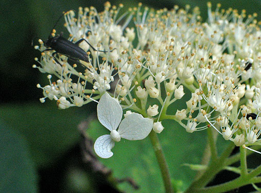
[{"label": "large black beetle with long antennae on the cluster's left end", "polygon": [[[65,13],[67,13],[67,12],[65,12]],[[68,39],[62,37],[63,32],[58,36],[54,35],[55,34],[54,28],[57,25],[58,21],[62,18],[62,16],[64,16],[65,13],[63,13],[63,15],[61,15],[58,18],[58,20],[55,23],[48,39],[46,41],[43,41],[44,46],[47,47],[47,49],[45,49],[43,52],[49,51],[49,50],[54,50],[55,52],[52,53],[52,56],[57,63],[59,63],[59,62],[55,58],[55,55],[58,54],[58,53],[67,56],[71,60],[77,60],[77,61],[83,60],[85,62],[89,62],[87,53],[82,48],[80,48],[78,45],[82,41],[86,41],[87,44],[94,51],[97,51],[97,50],[92,45],[90,45],[90,43],[86,39],[82,38],[82,39],[79,39],[78,41],[76,41],[75,43],[73,43],[72,41],[69,41]],[[107,52],[107,51],[101,51],[101,50],[98,50],[98,51]],[[60,65],[61,65],[61,63],[60,63]]]}]

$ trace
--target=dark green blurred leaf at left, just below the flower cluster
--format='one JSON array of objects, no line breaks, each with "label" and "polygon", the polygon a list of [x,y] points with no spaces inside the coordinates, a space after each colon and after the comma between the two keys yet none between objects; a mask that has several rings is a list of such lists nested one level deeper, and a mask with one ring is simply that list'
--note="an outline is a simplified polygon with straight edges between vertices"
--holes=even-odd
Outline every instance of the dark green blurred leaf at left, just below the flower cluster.
[{"label": "dark green blurred leaf at left, just below the flower cluster", "polygon": [[8,126],[19,131],[30,145],[37,166],[45,166],[63,155],[79,139],[77,124],[87,113],[77,108],[58,110],[50,102],[42,104],[7,104],[0,106],[0,116]]}]

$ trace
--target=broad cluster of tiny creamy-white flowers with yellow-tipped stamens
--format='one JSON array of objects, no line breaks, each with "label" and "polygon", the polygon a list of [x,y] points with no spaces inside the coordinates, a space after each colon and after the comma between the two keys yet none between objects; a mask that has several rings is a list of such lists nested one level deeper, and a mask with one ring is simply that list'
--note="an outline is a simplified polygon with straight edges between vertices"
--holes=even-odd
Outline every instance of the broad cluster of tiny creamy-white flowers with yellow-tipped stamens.
[{"label": "broad cluster of tiny creamy-white flowers with yellow-tipped stamens", "polygon": [[[40,100],[55,99],[58,108],[66,109],[114,90],[122,109],[154,119],[150,126],[156,133],[164,129],[162,120],[173,119],[189,133],[212,126],[235,145],[257,144],[261,133],[261,23],[256,14],[220,10],[220,4],[212,12],[208,3],[208,20],[202,23],[197,7],[192,13],[189,6],[141,11],[139,4],[118,16],[122,7],[107,2],[101,13],[91,7],[79,8],[77,18],[73,11],[65,14],[69,40],[84,38],[89,43],[79,44],[88,62],[72,64],[70,56],[45,51],[46,44],[39,40],[41,46],[35,48],[42,56],[36,61],[41,66],[34,67],[57,77],[50,85],[38,85],[45,96]],[[132,22],[135,29],[128,27]],[[89,84],[93,88],[88,90]],[[191,96],[187,108],[167,114],[169,105],[185,92]],[[124,138],[121,118],[114,127],[105,125],[111,135],[98,138],[96,147],[105,142],[112,147],[111,139]]]}]

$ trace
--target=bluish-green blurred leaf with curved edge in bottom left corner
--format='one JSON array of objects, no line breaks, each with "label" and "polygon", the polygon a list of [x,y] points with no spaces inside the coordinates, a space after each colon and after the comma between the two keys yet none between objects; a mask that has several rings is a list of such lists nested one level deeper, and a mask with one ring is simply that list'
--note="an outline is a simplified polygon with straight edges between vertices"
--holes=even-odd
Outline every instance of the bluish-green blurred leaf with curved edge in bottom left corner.
[{"label": "bluish-green blurred leaf with curved edge in bottom left corner", "polygon": [[0,136],[0,192],[37,192],[36,169],[25,139],[1,123]]}]

